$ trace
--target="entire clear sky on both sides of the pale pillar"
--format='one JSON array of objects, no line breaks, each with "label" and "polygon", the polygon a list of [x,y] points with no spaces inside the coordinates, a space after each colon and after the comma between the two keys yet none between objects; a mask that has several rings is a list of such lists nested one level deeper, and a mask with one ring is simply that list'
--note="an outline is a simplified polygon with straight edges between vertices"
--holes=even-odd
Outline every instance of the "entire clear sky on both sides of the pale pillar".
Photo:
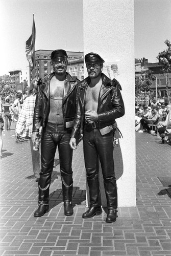
[{"label": "entire clear sky on both sides of the pale pillar", "polygon": [[[0,75],[29,66],[25,51],[32,34],[33,13],[35,50],[62,48],[83,52],[82,2],[0,0]],[[171,40],[171,0],[134,0],[134,31],[135,58],[158,62],[158,53],[166,49],[165,39]]]}]

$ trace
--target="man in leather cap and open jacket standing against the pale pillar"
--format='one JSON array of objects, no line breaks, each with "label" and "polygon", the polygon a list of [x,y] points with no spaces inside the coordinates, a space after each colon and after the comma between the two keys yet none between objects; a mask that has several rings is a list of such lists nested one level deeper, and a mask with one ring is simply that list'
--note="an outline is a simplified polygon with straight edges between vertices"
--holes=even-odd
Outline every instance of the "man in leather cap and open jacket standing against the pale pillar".
[{"label": "man in leather cap and open jacket standing against the pale pillar", "polygon": [[88,77],[79,83],[76,116],[69,142],[70,147],[76,149],[79,129],[83,132],[90,207],[82,217],[91,218],[102,213],[97,167],[100,159],[108,208],[106,222],[114,222],[117,217],[117,187],[113,141],[117,127],[115,119],[125,114],[124,102],[119,82],[102,73],[103,58],[91,52],[85,55],[85,62]]}]

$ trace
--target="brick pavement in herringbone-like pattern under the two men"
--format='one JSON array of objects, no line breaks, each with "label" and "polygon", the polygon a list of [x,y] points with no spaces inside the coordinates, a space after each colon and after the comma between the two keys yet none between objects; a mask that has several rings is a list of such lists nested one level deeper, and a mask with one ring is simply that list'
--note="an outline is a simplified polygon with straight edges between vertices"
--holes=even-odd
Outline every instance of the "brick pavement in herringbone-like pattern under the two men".
[{"label": "brick pavement in herringbone-like pattern under the two men", "polygon": [[147,133],[136,134],[137,207],[119,207],[117,221],[110,224],[105,222],[104,211],[100,216],[82,219],[86,184],[81,143],[72,163],[74,215],[63,214],[57,165],[50,211],[34,218],[38,188],[35,179],[28,178],[33,175],[30,145],[15,143],[14,123],[12,127],[3,132],[0,159],[0,255],[171,255],[170,145],[157,143],[156,137]]}]

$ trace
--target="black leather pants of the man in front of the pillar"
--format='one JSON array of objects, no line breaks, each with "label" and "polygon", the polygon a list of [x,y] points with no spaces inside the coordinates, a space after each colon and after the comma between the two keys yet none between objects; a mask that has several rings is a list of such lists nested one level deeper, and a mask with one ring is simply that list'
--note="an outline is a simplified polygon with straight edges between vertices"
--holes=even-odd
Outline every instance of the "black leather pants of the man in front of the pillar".
[{"label": "black leather pants of the man in front of the pillar", "polygon": [[84,129],[84,159],[89,187],[90,206],[101,206],[98,179],[100,160],[108,209],[117,209],[117,186],[113,161],[113,132],[102,136],[98,129]]}]

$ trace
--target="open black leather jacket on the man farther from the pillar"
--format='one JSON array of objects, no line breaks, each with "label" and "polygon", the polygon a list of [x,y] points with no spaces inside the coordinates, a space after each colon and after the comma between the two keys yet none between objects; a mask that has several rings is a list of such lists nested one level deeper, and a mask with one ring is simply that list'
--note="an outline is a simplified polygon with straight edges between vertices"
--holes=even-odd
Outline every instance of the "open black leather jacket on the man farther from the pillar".
[{"label": "open black leather jacket on the man farther from the pillar", "polygon": [[[42,84],[38,87],[38,93],[35,102],[34,118],[33,118],[33,132],[38,132],[40,126],[44,127],[47,115],[50,108],[49,89],[50,81],[55,73],[47,75]],[[64,83],[64,97],[62,100],[63,123],[74,121],[76,111],[76,93],[77,84],[80,82],[78,79],[72,78],[66,72]]]}]

